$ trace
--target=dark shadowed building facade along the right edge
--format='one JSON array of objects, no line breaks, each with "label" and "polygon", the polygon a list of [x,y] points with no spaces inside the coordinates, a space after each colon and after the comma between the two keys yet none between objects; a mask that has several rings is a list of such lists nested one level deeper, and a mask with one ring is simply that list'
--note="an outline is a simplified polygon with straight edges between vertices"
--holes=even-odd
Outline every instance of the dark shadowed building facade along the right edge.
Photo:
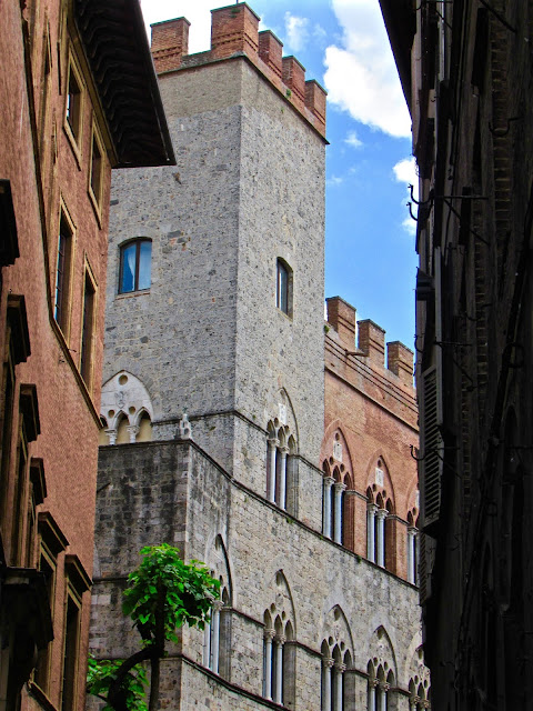
[{"label": "dark shadowed building facade along the right edge", "polygon": [[421,601],[433,708],[525,709],[533,2],[381,6],[420,171]]}]

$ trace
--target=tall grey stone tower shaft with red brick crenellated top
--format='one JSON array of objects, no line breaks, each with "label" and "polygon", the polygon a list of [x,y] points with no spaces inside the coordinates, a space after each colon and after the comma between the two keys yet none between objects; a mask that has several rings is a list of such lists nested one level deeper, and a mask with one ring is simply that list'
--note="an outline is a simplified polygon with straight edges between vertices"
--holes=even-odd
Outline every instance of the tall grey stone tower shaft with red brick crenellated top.
[{"label": "tall grey stone tower shaft with red brick crenellated top", "polygon": [[[247,4],[215,10],[212,49],[190,57],[185,19],[152,28],[178,166],[115,176],[104,381],[143,382],[153,439],[187,411],[194,441],[263,492],[269,421],[304,480],[322,437],[325,94],[258,24]],[[151,281],[124,290],[135,238]]]}]

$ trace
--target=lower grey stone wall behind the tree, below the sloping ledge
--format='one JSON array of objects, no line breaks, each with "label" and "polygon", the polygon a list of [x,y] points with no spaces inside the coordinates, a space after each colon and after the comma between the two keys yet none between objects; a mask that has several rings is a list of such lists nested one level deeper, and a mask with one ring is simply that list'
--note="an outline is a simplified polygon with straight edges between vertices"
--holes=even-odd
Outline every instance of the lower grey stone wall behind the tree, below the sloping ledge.
[{"label": "lower grey stone wall behind the tree, below the sloping ledge", "polygon": [[[420,644],[415,589],[238,484],[191,442],[102,448],[99,491],[93,653],[123,657],[135,649],[137,635],[119,611],[119,590],[142,545],[175,542],[185,559],[209,561],[229,582],[230,678],[219,682],[201,669],[203,632],[185,629],[182,644],[170,650],[175,659],[168,661],[162,708],[212,709],[213,694],[198,693],[198,689],[213,685],[219,704],[214,708],[228,711],[237,708],[239,689],[261,695],[263,613],[272,603],[279,604],[279,571],[286,580],[293,610],[294,709],[320,709],[320,645],[334,633],[325,624],[334,605],[342,609],[348,623],[356,708],[364,703],[366,664],[374,654],[388,658],[399,688],[406,689],[411,657]],[[223,542],[224,560],[213,558],[217,537]],[[174,682],[181,653],[189,662],[180,672],[180,690]],[[228,684],[229,691],[224,690]],[[259,698],[252,701],[241,707],[239,697],[238,708],[272,708]]]}]

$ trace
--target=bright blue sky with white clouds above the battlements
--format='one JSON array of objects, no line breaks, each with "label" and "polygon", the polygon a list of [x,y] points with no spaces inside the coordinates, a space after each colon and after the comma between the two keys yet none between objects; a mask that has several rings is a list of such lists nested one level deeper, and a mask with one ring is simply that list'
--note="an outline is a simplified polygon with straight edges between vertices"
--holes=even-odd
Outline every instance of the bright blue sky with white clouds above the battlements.
[{"label": "bright blue sky with white clouds above the battlements", "polygon": [[[189,51],[209,49],[217,0],[141,0],[147,24],[191,22]],[[379,0],[249,0],[269,29],[329,92],[325,296],[340,296],[413,348],[415,182],[410,120]]]}]

